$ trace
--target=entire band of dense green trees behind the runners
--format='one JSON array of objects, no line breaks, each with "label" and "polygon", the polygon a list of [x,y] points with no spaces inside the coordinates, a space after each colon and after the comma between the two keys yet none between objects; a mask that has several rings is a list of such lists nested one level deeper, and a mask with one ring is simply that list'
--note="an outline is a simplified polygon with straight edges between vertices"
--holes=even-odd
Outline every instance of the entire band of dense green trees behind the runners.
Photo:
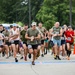
[{"label": "entire band of dense green trees behind the runners", "polygon": [[[0,22],[29,23],[29,0],[0,0]],[[31,0],[31,20],[43,22],[49,29],[56,21],[69,25],[70,0]],[[24,2],[24,3],[23,3]],[[72,0],[72,25],[75,24],[75,0]]]}]

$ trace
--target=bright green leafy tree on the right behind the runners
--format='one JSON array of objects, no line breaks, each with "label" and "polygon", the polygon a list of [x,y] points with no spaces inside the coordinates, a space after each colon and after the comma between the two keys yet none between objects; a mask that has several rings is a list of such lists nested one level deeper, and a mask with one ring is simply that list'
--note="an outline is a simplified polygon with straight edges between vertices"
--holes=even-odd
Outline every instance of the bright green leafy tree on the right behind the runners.
[{"label": "bright green leafy tree on the right behind the runners", "polygon": [[[42,21],[47,29],[51,28],[55,21],[59,21],[61,26],[63,24],[69,25],[69,8],[68,0],[44,0],[36,18],[38,21]],[[74,20],[72,22],[74,23]]]}]

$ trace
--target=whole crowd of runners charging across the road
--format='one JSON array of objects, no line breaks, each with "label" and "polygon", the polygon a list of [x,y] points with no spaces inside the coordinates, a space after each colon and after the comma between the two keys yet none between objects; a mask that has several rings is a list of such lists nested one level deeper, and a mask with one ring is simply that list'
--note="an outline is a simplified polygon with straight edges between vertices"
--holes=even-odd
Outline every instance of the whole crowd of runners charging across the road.
[{"label": "whole crowd of runners charging across the road", "polygon": [[27,24],[18,28],[14,24],[10,25],[10,29],[7,30],[0,24],[0,53],[2,56],[6,55],[6,58],[9,58],[13,55],[15,62],[18,62],[17,54],[19,53],[21,54],[20,59],[25,61],[28,60],[28,57],[33,57],[32,65],[35,65],[35,60],[40,54],[41,57],[44,57],[51,48],[55,60],[61,60],[60,52],[62,56],[67,56],[67,59],[70,60],[71,45],[75,37],[72,27],[67,27],[67,25],[61,27],[60,23],[56,22],[48,31],[42,25],[41,22],[38,25],[32,22],[30,28]]}]

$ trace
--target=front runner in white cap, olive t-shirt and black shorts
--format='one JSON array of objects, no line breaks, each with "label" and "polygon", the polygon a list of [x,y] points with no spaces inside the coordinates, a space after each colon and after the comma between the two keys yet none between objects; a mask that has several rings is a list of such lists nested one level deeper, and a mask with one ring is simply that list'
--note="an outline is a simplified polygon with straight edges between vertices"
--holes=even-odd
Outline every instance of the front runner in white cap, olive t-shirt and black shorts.
[{"label": "front runner in white cap, olive t-shirt and black shorts", "polygon": [[29,53],[33,54],[32,65],[35,65],[35,59],[37,56],[37,40],[40,39],[39,31],[36,29],[36,22],[32,22],[32,27],[26,32],[25,38],[27,39]]}]

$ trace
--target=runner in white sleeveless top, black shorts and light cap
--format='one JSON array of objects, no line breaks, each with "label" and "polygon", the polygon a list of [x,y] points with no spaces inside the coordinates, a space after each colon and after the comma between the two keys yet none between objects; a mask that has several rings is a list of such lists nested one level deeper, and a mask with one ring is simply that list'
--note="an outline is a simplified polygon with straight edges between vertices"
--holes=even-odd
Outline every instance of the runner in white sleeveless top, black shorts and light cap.
[{"label": "runner in white sleeveless top, black shorts and light cap", "polygon": [[10,32],[9,41],[11,42],[15,62],[18,62],[16,54],[17,54],[18,48],[19,48],[19,40],[20,40],[20,33],[19,33],[19,30],[17,29],[16,24],[14,24],[13,29]]}]

